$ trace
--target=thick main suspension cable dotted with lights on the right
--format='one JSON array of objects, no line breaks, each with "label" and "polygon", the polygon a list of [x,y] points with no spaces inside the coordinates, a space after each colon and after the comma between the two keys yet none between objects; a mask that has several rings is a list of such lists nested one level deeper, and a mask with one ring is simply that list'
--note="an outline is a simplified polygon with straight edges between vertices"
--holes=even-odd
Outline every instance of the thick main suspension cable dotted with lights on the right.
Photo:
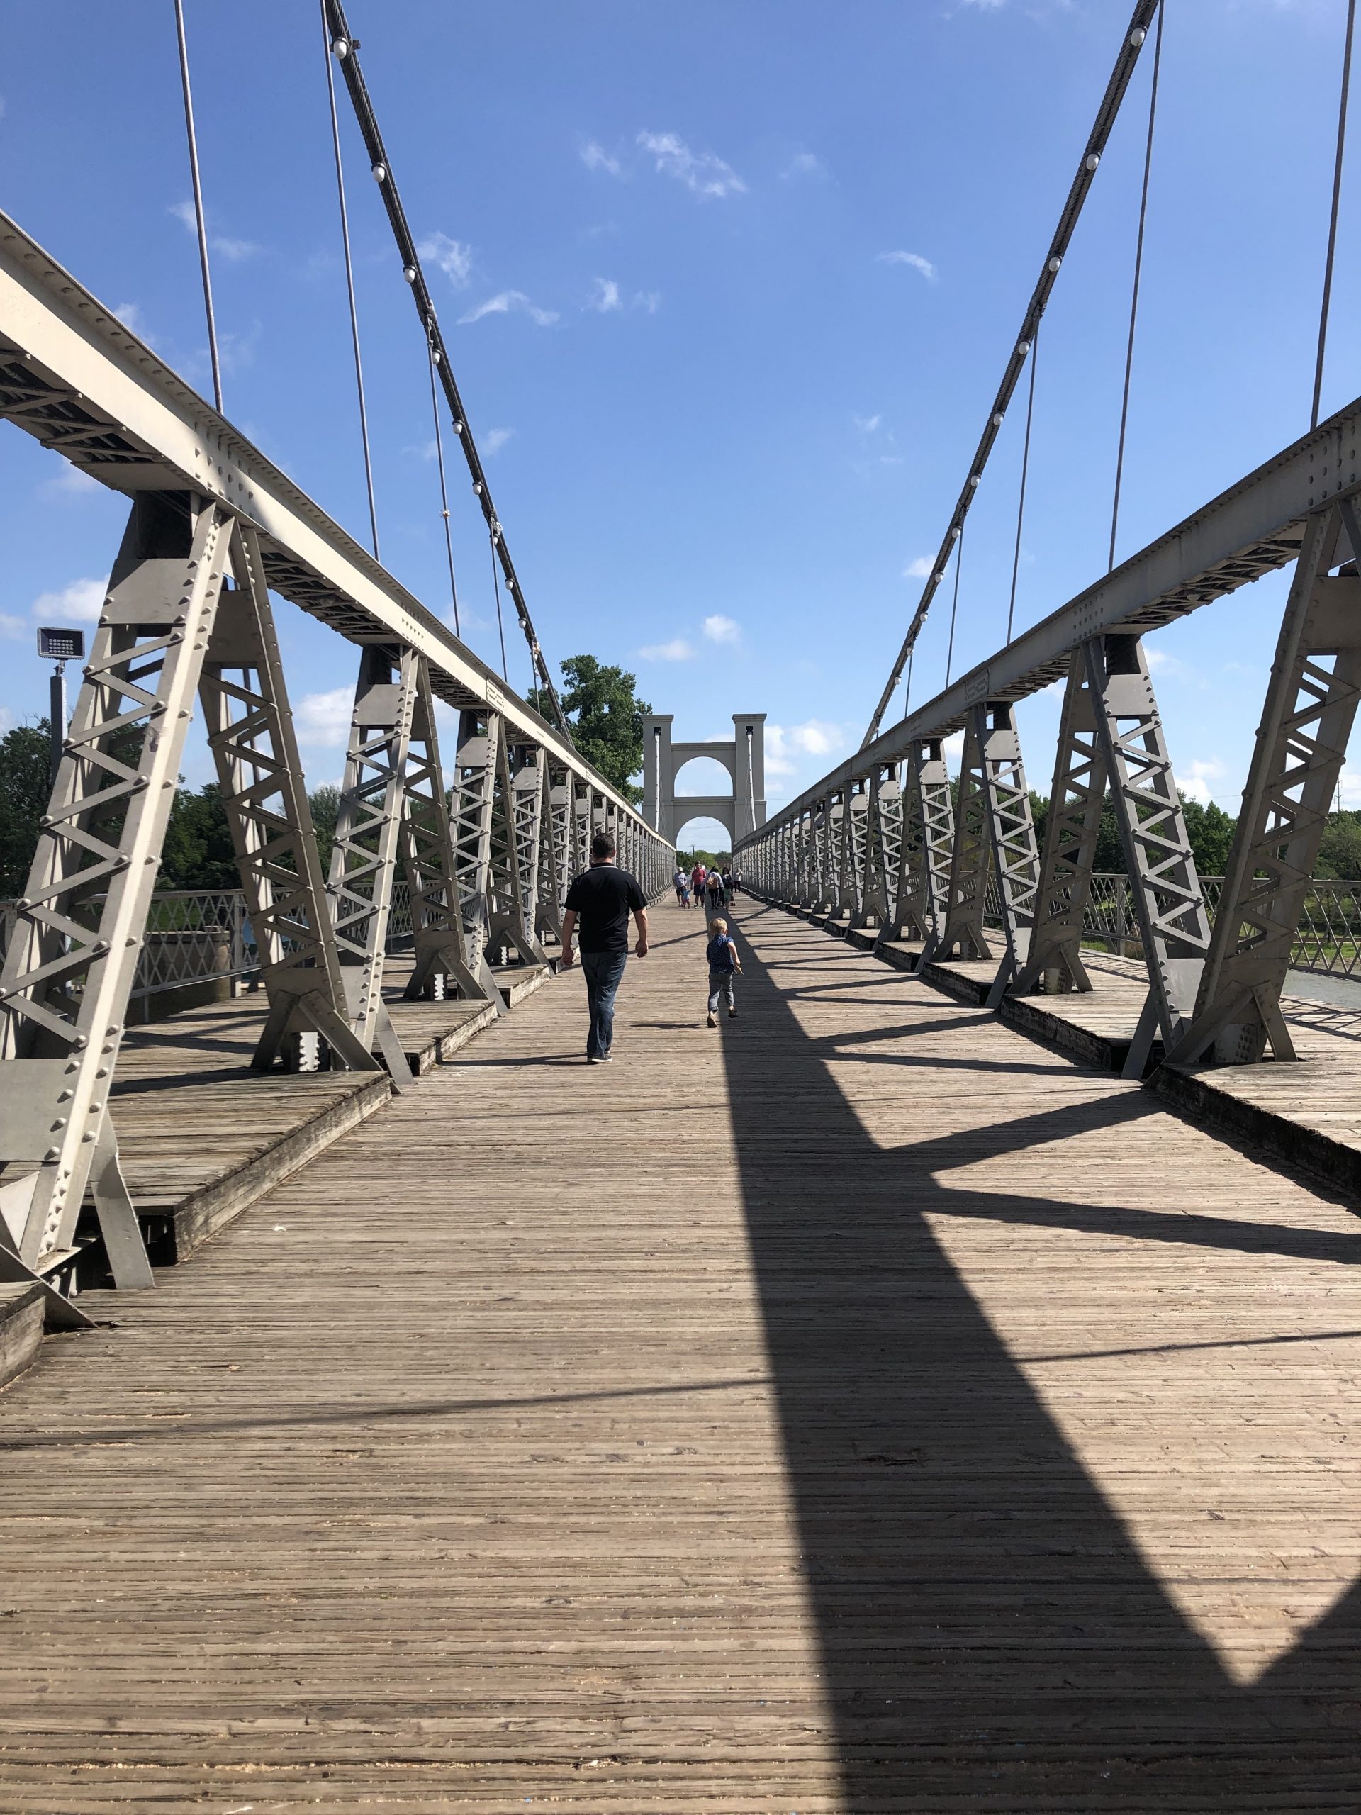
[{"label": "thick main suspension cable dotted with lights on the right", "polygon": [[916,604],[916,612],[913,613],[913,621],[907,626],[907,635],[904,637],[904,644],[898,650],[898,657],[893,664],[887,686],[880,693],[878,704],[875,706],[875,715],[871,717],[869,728],[864,739],[860,741],[862,750],[866,748],[866,744],[873,742],[873,739],[878,735],[878,728],[884,722],[884,713],[887,711],[895,688],[898,686],[898,681],[902,681],[902,670],[907,661],[907,655],[911,653],[911,648],[922,632],[922,624],[925,623],[925,615],[931,610],[931,601],[935,599],[936,586],[940,586],[945,575],[945,563],[949,561],[949,550],[955,539],[955,532],[962,528],[964,519],[969,512],[969,505],[973,503],[974,494],[978,492],[984,468],[987,466],[987,457],[993,452],[998,430],[1002,428],[1002,423],[1005,419],[1007,405],[1011,403],[1011,397],[1020,381],[1022,367],[1025,365],[1031,343],[1034,341],[1034,334],[1040,327],[1040,318],[1043,316],[1051,290],[1054,289],[1054,278],[1060,272],[1060,267],[1063,263],[1063,254],[1069,249],[1069,241],[1072,240],[1072,232],[1078,225],[1078,218],[1082,216],[1083,203],[1092,187],[1092,178],[1096,176],[1096,169],[1102,162],[1102,152],[1105,151],[1105,143],[1111,138],[1111,129],[1116,123],[1120,103],[1125,98],[1125,89],[1129,87],[1131,76],[1134,74],[1134,64],[1138,62],[1140,47],[1143,45],[1143,40],[1149,33],[1149,25],[1152,24],[1152,16],[1156,11],[1158,11],[1158,0],[1136,0],[1131,22],[1125,27],[1125,36],[1120,45],[1120,54],[1116,56],[1116,65],[1111,71],[1111,80],[1107,82],[1105,94],[1102,96],[1102,105],[1096,113],[1096,123],[1092,125],[1092,131],[1087,138],[1087,145],[1083,149],[1082,162],[1078,165],[1078,174],[1072,178],[1072,187],[1069,189],[1063,211],[1058,218],[1054,238],[1049,241],[1049,250],[1045,254],[1043,269],[1040,270],[1040,278],[1034,285],[1034,290],[1031,292],[1031,299],[1025,305],[1025,316],[1022,319],[1020,338],[1013,345],[1011,358],[1007,359],[1007,368],[1002,374],[1002,385],[998,387],[998,394],[993,399],[993,408],[987,412],[987,427],[984,428],[984,434],[974,450],[973,461],[969,465],[969,476],[955,505],[955,512],[949,519],[949,528],[945,530],[940,552],[936,554],[936,559],[931,563],[931,572],[927,574],[925,586],[922,588],[922,597]]}]

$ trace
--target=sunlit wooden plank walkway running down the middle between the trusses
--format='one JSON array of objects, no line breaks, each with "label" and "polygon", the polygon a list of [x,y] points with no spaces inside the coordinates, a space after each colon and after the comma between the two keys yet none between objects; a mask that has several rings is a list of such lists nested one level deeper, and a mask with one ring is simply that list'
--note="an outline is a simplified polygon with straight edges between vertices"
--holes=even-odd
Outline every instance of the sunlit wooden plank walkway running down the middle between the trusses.
[{"label": "sunlit wooden plank walkway running down the middle between the trusses", "polygon": [[0,1396],[0,1808],[1361,1806],[1361,1221],[739,915]]}]

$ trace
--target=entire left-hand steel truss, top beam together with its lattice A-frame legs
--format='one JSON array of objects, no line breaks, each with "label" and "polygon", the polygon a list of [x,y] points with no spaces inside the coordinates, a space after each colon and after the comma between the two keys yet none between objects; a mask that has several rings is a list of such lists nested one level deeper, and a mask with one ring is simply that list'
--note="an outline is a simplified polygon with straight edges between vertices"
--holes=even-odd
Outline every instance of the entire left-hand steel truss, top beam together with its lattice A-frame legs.
[{"label": "entire left-hand steel truss, top beam together with its lattice A-frame legs", "polygon": [[[0,1278],[40,1281],[49,1321],[76,1325],[83,1218],[118,1285],[152,1283],[107,1104],[196,693],[269,1000],[258,1067],[374,1069],[379,1055],[408,1082],[383,996],[399,866],[406,995],[452,986],[501,1007],[488,946],[544,962],[592,819],[648,897],[671,851],[5,216],[0,417],[132,501],[0,973]],[[361,648],[328,884],[270,594]],[[448,799],[436,699],[459,711]]]}]

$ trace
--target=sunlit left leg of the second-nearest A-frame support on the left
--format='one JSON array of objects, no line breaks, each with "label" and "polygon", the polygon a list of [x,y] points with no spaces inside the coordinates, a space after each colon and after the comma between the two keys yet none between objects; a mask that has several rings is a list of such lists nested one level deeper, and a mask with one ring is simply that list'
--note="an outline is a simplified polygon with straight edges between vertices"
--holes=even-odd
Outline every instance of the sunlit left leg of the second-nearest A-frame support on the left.
[{"label": "sunlit left leg of the second-nearest A-frame support on the left", "polygon": [[406,815],[417,668],[412,648],[374,643],[359,652],[327,880],[354,1033],[383,1058],[397,1089],[410,1084],[412,1073],[383,1000],[383,967]]}]

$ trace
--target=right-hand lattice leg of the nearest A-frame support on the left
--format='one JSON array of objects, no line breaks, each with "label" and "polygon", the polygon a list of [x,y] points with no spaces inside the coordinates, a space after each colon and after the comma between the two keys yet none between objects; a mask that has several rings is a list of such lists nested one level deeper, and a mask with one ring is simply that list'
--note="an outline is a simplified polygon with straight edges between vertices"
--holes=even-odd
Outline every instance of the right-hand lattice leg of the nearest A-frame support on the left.
[{"label": "right-hand lattice leg of the nearest A-frame support on the left", "polygon": [[230,566],[198,693],[269,1002],[250,1064],[265,1071],[312,1033],[336,1065],[374,1071],[345,1002],[259,543],[241,523]]}]

